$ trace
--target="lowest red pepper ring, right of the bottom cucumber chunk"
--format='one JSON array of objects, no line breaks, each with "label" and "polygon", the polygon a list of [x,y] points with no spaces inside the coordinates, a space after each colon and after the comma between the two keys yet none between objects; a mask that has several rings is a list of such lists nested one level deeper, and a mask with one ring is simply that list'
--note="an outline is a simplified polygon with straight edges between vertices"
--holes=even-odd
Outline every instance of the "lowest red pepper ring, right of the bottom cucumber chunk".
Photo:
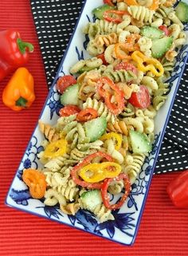
[{"label": "lowest red pepper ring, right of the bottom cucumber chunk", "polygon": [[[110,204],[110,196],[108,195],[108,187],[112,181],[115,181],[115,180],[119,181],[121,179],[123,179],[125,192],[118,203]],[[104,183],[102,184],[102,187],[101,187],[101,195],[102,195],[104,206],[111,210],[119,209],[123,205],[125,200],[127,199],[127,196],[129,195],[130,191],[131,191],[131,183],[130,183],[130,180],[128,179],[127,174],[125,174],[125,173],[119,174],[116,178],[104,179]]]}]

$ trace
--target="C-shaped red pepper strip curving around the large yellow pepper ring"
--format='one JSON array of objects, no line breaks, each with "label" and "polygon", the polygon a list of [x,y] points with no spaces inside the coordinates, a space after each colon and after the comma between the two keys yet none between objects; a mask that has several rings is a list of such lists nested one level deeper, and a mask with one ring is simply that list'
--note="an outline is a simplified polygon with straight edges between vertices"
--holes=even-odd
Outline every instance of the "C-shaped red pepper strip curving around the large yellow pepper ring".
[{"label": "C-shaped red pepper strip curving around the large yellow pepper ring", "polygon": [[91,163],[91,161],[96,158],[96,156],[101,156],[103,158],[105,158],[106,160],[108,160],[109,162],[113,162],[113,158],[112,156],[109,156],[108,154],[105,154],[103,152],[96,152],[93,153],[90,156],[87,156],[84,158],[84,160],[82,160],[82,162],[78,163],[75,167],[72,168],[71,170],[71,176],[73,181],[77,184],[80,185],[81,187],[87,187],[87,188],[95,188],[95,189],[100,189],[100,187],[102,186],[102,183],[87,183],[83,180],[80,180],[78,177],[77,172],[84,167],[85,165],[87,165],[88,163]]}]

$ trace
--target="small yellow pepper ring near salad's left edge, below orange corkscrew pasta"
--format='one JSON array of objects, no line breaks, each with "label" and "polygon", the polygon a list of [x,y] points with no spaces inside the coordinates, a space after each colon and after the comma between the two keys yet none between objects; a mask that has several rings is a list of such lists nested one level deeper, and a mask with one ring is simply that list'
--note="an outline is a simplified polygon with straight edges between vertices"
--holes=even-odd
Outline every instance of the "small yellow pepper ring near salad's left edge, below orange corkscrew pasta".
[{"label": "small yellow pepper ring near salad's left edge, below orange corkscrew pasta", "polygon": [[66,152],[67,141],[65,139],[54,141],[45,148],[44,156],[47,158],[54,158],[63,156]]}]

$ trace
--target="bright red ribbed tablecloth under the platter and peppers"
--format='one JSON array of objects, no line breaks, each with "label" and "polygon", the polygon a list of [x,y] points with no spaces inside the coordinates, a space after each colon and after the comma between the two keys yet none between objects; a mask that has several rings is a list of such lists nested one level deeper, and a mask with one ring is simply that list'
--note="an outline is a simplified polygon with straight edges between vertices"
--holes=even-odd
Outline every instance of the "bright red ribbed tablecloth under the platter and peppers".
[{"label": "bright red ribbed tablecloth under the platter and peppers", "polygon": [[[188,210],[175,209],[166,195],[166,185],[178,172],[155,175],[152,179],[139,233],[131,247],[14,210],[4,204],[48,93],[29,0],[0,1],[0,30],[7,28],[18,29],[22,37],[35,46],[27,67],[33,73],[37,97],[33,106],[22,112],[6,108],[2,104],[2,96],[0,100],[0,255],[187,256]],[[7,81],[0,83],[1,89]]]}]

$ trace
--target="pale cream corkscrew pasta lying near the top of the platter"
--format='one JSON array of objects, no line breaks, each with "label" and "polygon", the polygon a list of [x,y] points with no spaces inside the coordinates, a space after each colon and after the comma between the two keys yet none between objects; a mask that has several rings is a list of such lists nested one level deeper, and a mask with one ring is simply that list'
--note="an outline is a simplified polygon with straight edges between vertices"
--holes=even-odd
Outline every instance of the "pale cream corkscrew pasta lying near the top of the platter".
[{"label": "pale cream corkscrew pasta lying near the top of the platter", "polygon": [[155,14],[154,10],[149,10],[144,6],[129,6],[127,10],[133,18],[141,22],[151,23],[153,15]]}]

